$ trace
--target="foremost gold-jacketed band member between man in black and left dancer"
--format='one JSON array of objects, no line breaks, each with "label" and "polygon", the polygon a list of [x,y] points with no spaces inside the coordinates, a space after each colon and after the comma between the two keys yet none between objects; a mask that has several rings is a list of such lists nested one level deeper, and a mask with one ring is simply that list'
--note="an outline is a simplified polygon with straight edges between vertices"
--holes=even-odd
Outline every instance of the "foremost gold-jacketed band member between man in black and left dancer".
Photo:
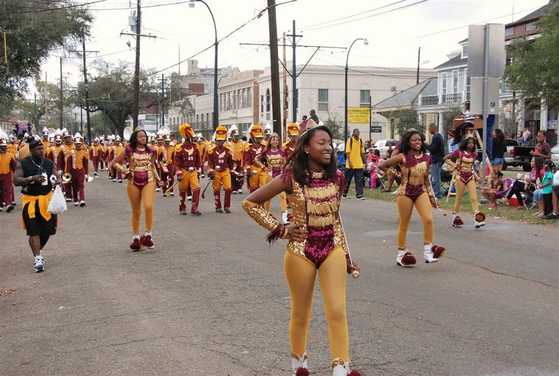
[{"label": "foremost gold-jacketed band member between man in black and left dancer", "polygon": [[72,175],[70,185],[74,206],[80,205],[83,208],[85,206],[84,183],[89,178],[89,153],[82,149],[83,138],[80,133],[75,133],[73,143],[75,147],[68,154],[65,172]]}]

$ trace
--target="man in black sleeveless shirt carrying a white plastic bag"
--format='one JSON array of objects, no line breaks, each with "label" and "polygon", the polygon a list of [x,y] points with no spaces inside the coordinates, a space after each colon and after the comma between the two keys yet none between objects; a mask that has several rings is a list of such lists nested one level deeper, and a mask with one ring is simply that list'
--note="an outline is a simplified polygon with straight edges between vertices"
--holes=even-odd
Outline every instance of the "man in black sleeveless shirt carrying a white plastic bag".
[{"label": "man in black sleeveless shirt carrying a white plastic bag", "polygon": [[[15,166],[13,184],[22,187],[22,218],[24,229],[29,236],[29,246],[34,256],[36,272],[45,270],[43,247],[50,236],[55,235],[58,217],[47,211],[52,197],[52,185],[61,184],[56,165],[45,158],[41,141],[29,143],[31,155],[20,160]],[[54,176],[55,178],[52,178]]]}]

